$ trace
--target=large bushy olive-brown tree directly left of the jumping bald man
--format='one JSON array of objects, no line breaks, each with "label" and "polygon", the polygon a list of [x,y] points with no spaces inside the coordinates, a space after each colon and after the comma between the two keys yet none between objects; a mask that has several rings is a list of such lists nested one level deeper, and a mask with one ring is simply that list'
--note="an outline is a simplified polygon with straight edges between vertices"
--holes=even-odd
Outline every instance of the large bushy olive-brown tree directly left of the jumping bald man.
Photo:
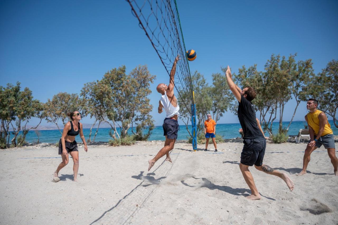
[{"label": "large bushy olive-brown tree directly left of the jumping bald man", "polygon": [[[107,117],[121,123],[121,125],[118,124],[121,138],[127,136],[127,131],[132,123],[141,127],[153,126],[153,120],[149,115],[152,105],[149,104],[148,95],[151,93],[150,83],[153,83],[154,79],[155,76],[150,74],[147,66],[138,66],[129,74],[126,74],[126,68],[122,66],[108,71],[103,76],[103,101],[108,110],[106,111]],[[150,135],[152,129],[148,130]],[[139,134],[135,133],[135,135]]]}]

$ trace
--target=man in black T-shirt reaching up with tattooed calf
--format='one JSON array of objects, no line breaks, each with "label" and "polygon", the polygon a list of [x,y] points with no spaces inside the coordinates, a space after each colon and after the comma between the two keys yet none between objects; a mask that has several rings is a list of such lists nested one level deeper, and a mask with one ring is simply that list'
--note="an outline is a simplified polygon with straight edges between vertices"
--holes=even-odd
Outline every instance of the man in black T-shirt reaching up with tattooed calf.
[{"label": "man in black T-shirt reaching up with tattooed calf", "polygon": [[249,171],[249,166],[253,165],[255,165],[255,168],[259,171],[282,178],[288,185],[290,191],[293,191],[293,182],[286,173],[281,173],[272,169],[268,165],[263,164],[266,140],[257,126],[254,105],[251,103],[251,101],[256,97],[255,90],[252,87],[246,87],[241,90],[232,81],[229,66],[226,69],[225,76],[230,90],[238,100],[238,119],[244,132],[244,146],[241,153],[241,163],[239,167],[245,182],[251,190],[251,195],[246,198],[250,200],[258,200],[261,198],[261,195],[256,188],[254,178]]}]

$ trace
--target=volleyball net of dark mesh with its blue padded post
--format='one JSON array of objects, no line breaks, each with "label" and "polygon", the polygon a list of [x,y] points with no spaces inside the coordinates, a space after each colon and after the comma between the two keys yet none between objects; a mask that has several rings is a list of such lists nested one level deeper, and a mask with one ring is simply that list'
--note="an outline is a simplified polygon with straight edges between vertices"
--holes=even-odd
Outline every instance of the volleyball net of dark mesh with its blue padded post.
[{"label": "volleyball net of dark mesh with its blue padded post", "polygon": [[138,19],[140,28],[145,31],[169,76],[176,56],[180,55],[181,60],[178,60],[176,65],[174,85],[180,107],[186,107],[190,113],[193,149],[196,151],[196,105],[176,0],[126,1],[130,4],[132,15]]}]

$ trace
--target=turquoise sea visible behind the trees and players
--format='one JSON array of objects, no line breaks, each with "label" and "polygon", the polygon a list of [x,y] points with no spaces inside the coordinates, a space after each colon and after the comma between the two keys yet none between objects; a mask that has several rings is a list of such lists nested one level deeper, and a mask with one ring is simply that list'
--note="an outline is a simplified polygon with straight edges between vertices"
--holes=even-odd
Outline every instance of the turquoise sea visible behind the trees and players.
[{"label": "turquoise sea visible behind the trees and players", "polygon": [[[291,123],[291,126],[289,128],[289,135],[297,135],[299,129],[303,129],[304,128],[304,123],[305,121],[294,121]],[[333,121],[329,121],[329,123],[331,124],[331,128],[333,130],[333,133],[335,135],[338,135],[338,129],[334,126]],[[287,127],[289,124],[289,122],[283,122],[283,126]],[[278,122],[274,122],[272,129],[273,132],[276,133],[278,130],[278,126],[279,123]],[[181,125],[179,126],[180,130],[178,131],[178,140],[187,140],[188,139],[188,131],[186,129],[185,125]],[[223,136],[224,139],[232,139],[232,138],[236,138],[239,135],[238,133],[238,129],[241,128],[239,123],[228,123],[228,124],[217,124],[216,126],[216,133],[220,134]],[[191,132],[191,126],[188,126],[189,131]],[[109,130],[110,128],[99,128],[98,129],[98,133],[96,135],[95,141],[102,141],[102,142],[107,142],[108,140],[112,139],[109,136]],[[128,130],[128,133],[131,134],[131,129]],[[93,140],[94,138],[94,134],[95,134],[96,129],[92,130],[92,136],[91,136],[91,140]],[[119,129],[118,129],[119,131]],[[83,134],[86,138],[86,140],[88,140],[89,138],[89,132],[90,129],[83,129]],[[40,130],[40,143],[56,143],[59,141],[59,139],[61,138],[61,133],[59,132],[59,130]],[[268,136],[268,133],[265,133],[266,136]],[[11,134],[12,136],[12,134]],[[34,143],[37,142],[38,137],[35,134],[34,131],[30,130],[26,136],[26,142],[28,143]],[[152,133],[148,139],[149,141],[152,140],[165,140],[164,136],[163,136],[163,128],[162,126],[156,126],[153,130]],[[76,141],[77,142],[81,142],[81,139],[79,136],[76,136]]]}]

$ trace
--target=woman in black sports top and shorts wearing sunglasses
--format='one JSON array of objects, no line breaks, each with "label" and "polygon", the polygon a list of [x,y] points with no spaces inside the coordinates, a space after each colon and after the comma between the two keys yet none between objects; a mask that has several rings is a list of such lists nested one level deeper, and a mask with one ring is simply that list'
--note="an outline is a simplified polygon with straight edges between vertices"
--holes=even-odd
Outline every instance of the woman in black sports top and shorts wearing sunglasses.
[{"label": "woman in black sports top and shorts wearing sunglasses", "polygon": [[64,168],[68,162],[68,154],[70,154],[74,161],[73,171],[74,171],[74,181],[77,181],[77,171],[79,169],[79,151],[77,150],[77,143],[75,141],[75,136],[80,134],[80,138],[84,145],[84,151],[88,151],[86,139],[84,138],[82,131],[81,114],[78,111],[68,113],[70,120],[66,123],[65,128],[62,133],[62,137],[59,141],[59,155],[62,157],[62,163],[59,164],[56,171],[54,172],[53,181],[57,182],[60,180],[58,178],[59,171]]}]

